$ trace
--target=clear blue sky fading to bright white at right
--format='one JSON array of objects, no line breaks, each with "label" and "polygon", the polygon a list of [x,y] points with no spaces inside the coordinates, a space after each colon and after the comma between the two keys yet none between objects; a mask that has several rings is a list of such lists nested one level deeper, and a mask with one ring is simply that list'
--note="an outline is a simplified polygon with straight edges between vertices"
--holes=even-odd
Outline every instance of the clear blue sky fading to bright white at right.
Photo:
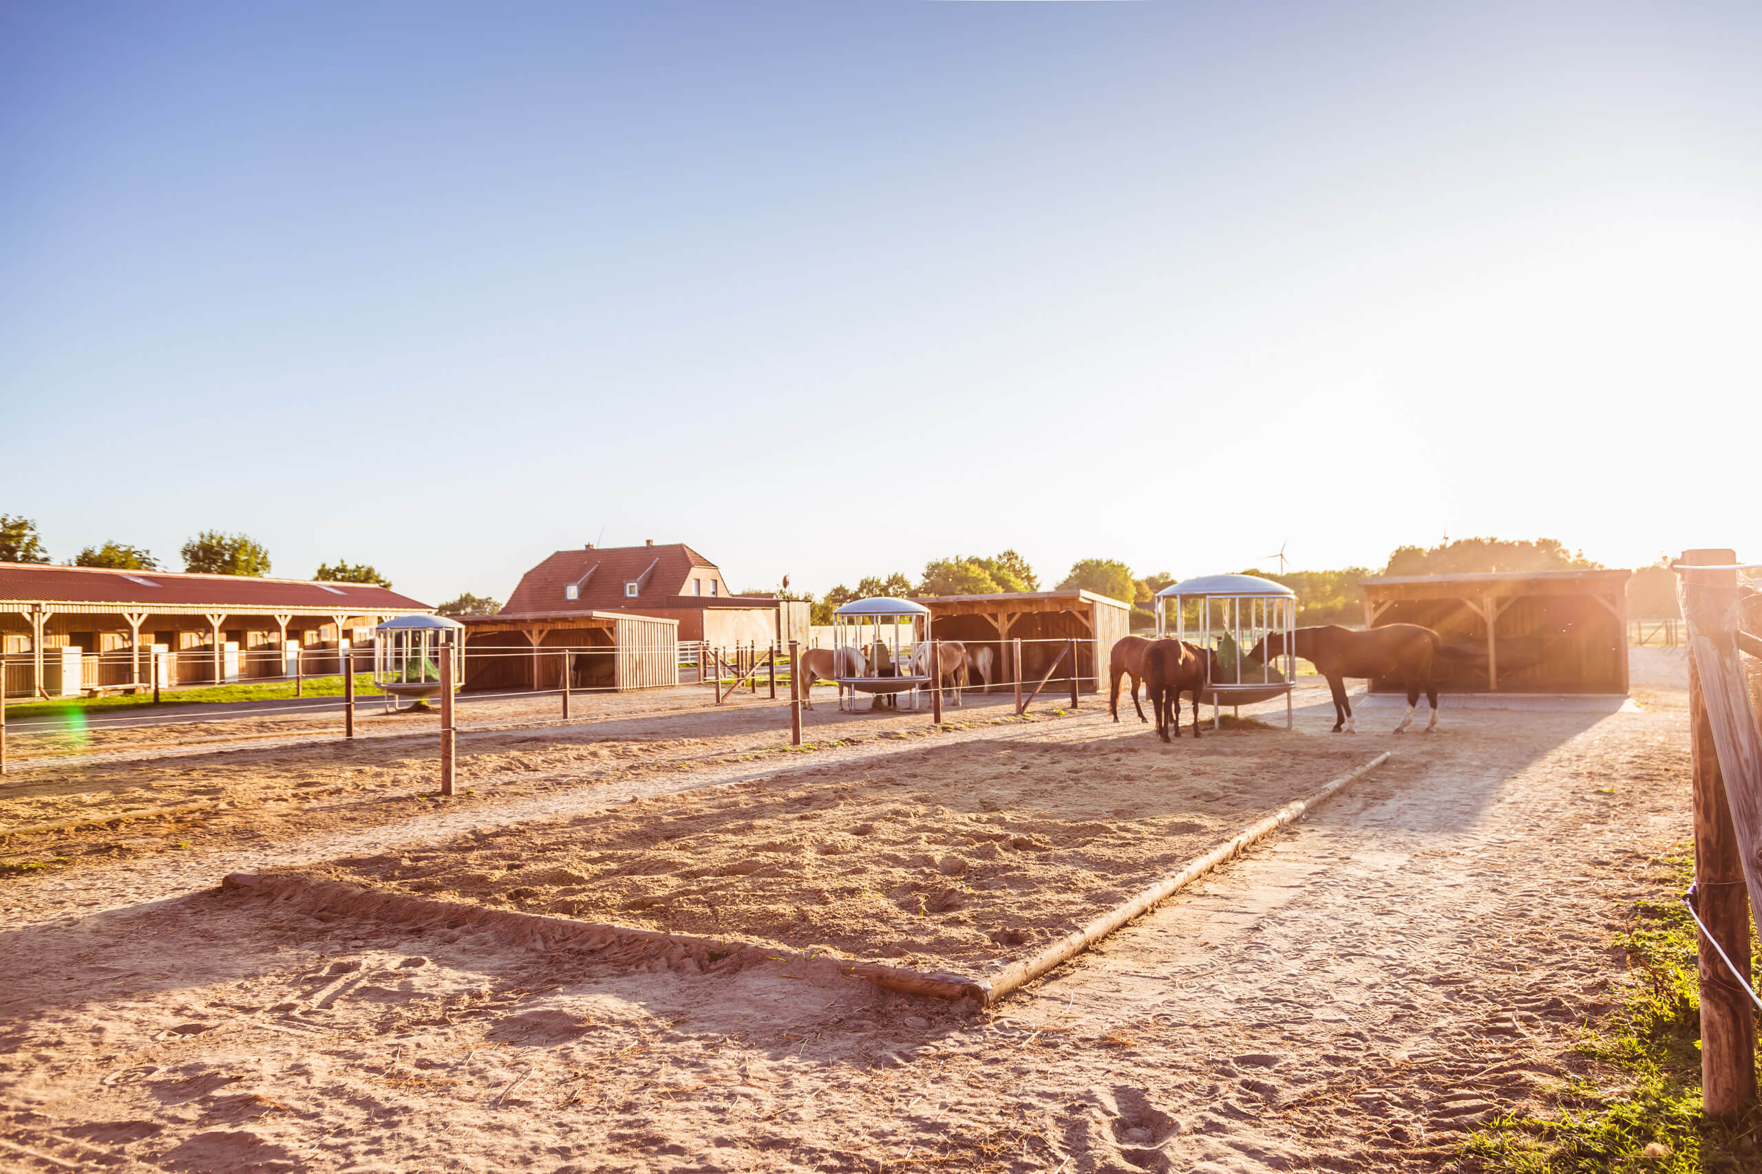
[{"label": "clear blue sky fading to bright white at right", "polygon": [[4,0],[0,512],[428,600],[601,533],[1762,556],[1758,62],[1755,4]]}]

